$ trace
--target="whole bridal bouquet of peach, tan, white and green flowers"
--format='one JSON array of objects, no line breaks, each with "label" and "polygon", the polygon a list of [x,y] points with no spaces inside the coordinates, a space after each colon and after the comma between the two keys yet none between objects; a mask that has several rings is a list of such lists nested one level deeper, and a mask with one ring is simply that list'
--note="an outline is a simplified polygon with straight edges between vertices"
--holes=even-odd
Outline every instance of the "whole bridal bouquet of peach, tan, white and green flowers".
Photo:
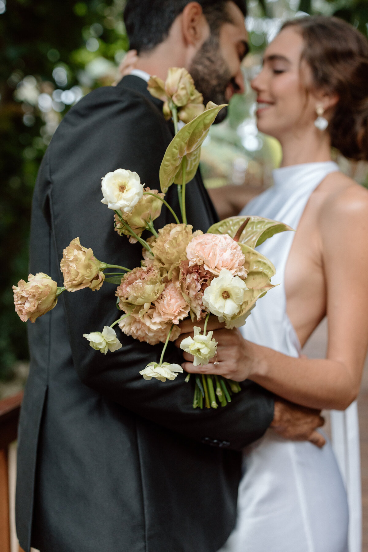
[{"label": "whole bridal bouquet of peach, tan, white and green flowers", "polygon": [[[173,119],[175,128],[159,172],[161,192],[145,187],[129,169],[118,168],[102,178],[102,203],[114,211],[119,236],[142,245],[141,266],[129,269],[98,261],[92,249],[76,237],[63,251],[63,287],[47,274],[38,273],[29,274],[28,282],[20,280],[13,290],[20,319],[34,322],[56,306],[63,291],[98,291],[104,283],[118,284],[115,295],[122,315],[102,332],[84,333],[83,337],[104,354],[122,347],[116,325],[138,341],[164,343],[159,362],[150,362],[140,371],[146,380],[164,382],[183,372],[179,364],[163,362],[168,342],[180,335],[180,320],[188,316],[192,322],[204,320],[204,330],[195,326],[194,337],[184,339],[180,347],[194,356],[195,365],[209,363],[217,348],[213,332],[206,331],[210,314],[225,322],[226,328],[245,323],[257,299],[274,287],[270,278],[275,268],[254,247],[289,227],[257,216],[235,216],[212,225],[206,233],[193,230],[186,221],[186,184],[195,176],[201,144],[225,106],[212,102],[204,106],[184,69],[170,69],[166,82],[151,77],[148,89],[163,100],[164,115]],[[178,119],[185,122],[180,130]],[[164,199],[172,184],[178,187],[182,222]],[[176,222],[156,231],[153,221],[163,205]],[[145,231],[150,237],[142,237]],[[113,272],[106,272],[111,269]],[[193,407],[225,406],[240,389],[235,381],[219,376],[196,376]]]}]

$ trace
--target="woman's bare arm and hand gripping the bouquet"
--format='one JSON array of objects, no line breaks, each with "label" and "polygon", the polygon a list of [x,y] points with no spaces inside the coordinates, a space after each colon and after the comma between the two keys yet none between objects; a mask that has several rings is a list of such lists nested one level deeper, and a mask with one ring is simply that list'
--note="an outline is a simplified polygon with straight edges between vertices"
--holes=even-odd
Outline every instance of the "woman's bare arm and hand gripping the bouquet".
[{"label": "woman's bare arm and hand gripping the bouquet", "polygon": [[321,210],[319,226],[327,287],[327,359],[288,357],[246,341],[238,330],[218,330],[219,364],[194,367],[187,362],[186,371],[248,378],[312,408],[349,406],[358,395],[368,343],[366,190],[354,185],[330,200]]}]

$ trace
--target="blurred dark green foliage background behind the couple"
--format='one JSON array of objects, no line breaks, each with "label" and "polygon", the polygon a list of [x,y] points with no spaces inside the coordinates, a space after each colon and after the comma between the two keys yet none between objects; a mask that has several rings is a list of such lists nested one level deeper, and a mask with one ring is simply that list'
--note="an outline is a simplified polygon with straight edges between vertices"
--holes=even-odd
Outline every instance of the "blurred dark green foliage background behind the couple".
[{"label": "blurred dark green foliage background behind the couple", "polygon": [[[129,46],[122,20],[124,3],[0,0],[2,380],[12,377],[15,362],[28,358],[26,325],[14,312],[12,285],[28,274],[30,205],[39,163],[72,103],[61,102],[60,94],[72,91],[77,99],[114,81],[116,67]],[[249,9],[257,19],[292,17],[298,10],[336,14],[367,32],[366,0],[250,0]],[[251,40],[252,35],[259,35],[252,40],[254,52],[265,46],[266,33],[262,32],[250,33]],[[55,70],[66,76],[63,82],[55,81]],[[242,112],[237,102],[233,113]]]}]

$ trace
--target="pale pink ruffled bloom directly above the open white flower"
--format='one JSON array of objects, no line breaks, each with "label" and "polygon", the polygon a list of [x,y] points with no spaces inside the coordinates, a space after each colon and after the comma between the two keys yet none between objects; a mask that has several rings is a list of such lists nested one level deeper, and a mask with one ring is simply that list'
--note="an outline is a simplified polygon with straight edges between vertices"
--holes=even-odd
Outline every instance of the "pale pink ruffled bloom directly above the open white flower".
[{"label": "pale pink ruffled bloom directly above the open white flower", "polygon": [[189,267],[198,264],[215,276],[226,269],[231,274],[246,278],[245,257],[239,244],[228,234],[202,234],[196,236],[186,247]]}]

